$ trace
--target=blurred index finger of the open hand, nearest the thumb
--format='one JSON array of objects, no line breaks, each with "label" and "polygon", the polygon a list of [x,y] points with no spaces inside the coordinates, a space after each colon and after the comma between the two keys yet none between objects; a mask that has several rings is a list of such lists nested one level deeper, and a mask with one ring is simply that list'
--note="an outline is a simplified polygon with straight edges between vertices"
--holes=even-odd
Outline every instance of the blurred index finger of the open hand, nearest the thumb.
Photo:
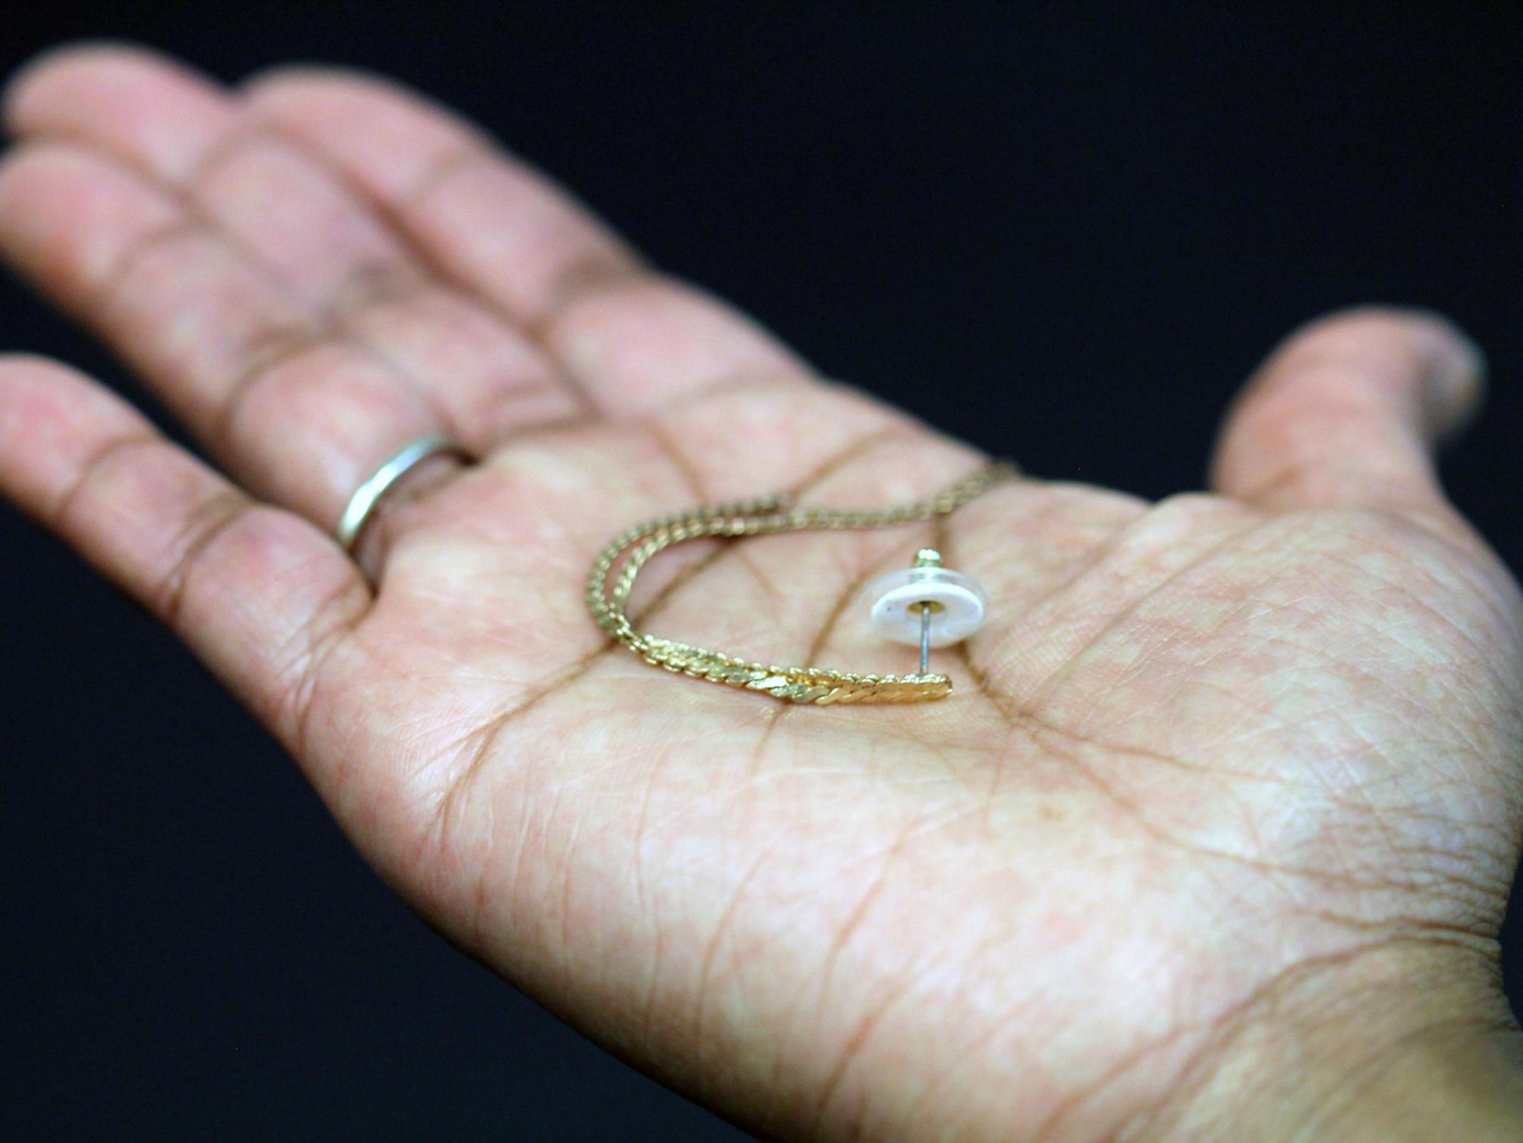
[{"label": "blurred index finger of the open hand, nearest the thumb", "polygon": [[605,410],[649,411],[730,378],[807,375],[752,322],[643,270],[565,190],[436,104],[338,69],[282,67],[244,90],[442,276],[536,331]]}]

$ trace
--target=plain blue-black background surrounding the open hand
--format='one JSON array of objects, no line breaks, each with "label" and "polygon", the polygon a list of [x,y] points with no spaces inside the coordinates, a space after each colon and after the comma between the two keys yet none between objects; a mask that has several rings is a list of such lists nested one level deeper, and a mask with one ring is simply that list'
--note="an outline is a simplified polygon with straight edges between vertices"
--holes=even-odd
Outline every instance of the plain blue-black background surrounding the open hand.
[{"label": "plain blue-black background surrounding the open hand", "polygon": [[[5,72],[79,35],[224,79],[390,72],[825,372],[1048,477],[1199,486],[1288,328],[1433,306],[1493,363],[1451,494],[1523,567],[1512,5],[15,9]],[[140,396],[14,280],[0,346]],[[429,933],[172,640],[5,507],[0,744],[0,1137],[739,1138]]]}]

